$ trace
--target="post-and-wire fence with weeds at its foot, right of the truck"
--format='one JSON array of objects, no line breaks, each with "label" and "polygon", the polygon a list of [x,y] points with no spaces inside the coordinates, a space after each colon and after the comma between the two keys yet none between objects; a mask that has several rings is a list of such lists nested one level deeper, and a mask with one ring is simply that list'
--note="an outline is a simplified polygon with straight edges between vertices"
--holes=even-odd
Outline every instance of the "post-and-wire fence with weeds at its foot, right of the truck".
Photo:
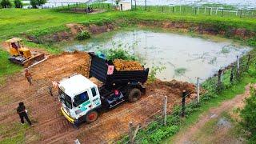
[{"label": "post-and-wire fence with weeds at its foot, right of the truck", "polygon": [[[163,108],[152,114],[142,123],[129,124],[129,130],[122,131],[122,137],[109,140],[109,143],[144,143],[144,142],[158,142],[162,134],[160,132],[166,131],[167,136],[171,136],[178,132],[179,126],[182,125],[182,118],[189,117],[195,110],[211,98],[218,97],[222,90],[230,88],[234,83],[240,82],[242,75],[255,69],[256,54],[247,54],[241,58],[236,56],[237,61],[230,64],[224,69],[218,70],[218,73],[213,77],[208,78],[206,82],[202,83],[200,90],[202,94],[196,97],[191,97],[183,91],[182,99],[176,102],[168,102],[166,98],[163,99]],[[199,83],[198,83],[199,86]],[[172,106],[170,106],[172,105]],[[166,107],[171,107],[166,110]],[[169,131],[168,131],[169,130]],[[162,134],[163,137],[164,134]],[[162,139],[162,138],[161,138]],[[161,140],[160,139],[160,140]]]}]

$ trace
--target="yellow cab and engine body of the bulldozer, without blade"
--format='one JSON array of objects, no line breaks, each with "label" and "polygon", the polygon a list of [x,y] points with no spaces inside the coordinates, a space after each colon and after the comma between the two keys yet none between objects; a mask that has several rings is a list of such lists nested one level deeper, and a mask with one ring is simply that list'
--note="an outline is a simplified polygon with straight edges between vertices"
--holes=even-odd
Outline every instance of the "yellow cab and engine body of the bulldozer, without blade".
[{"label": "yellow cab and engine body of the bulldozer, without blade", "polygon": [[21,38],[11,38],[6,42],[8,43],[11,56],[22,56],[24,58],[31,57],[30,50],[22,46]]}]

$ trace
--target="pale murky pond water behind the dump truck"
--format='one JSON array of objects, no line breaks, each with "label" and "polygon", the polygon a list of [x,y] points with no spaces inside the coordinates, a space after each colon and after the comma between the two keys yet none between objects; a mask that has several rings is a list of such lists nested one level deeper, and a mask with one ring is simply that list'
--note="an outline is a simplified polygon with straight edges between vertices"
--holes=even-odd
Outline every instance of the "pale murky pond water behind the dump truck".
[{"label": "pale murky pond water behind the dump truck", "polygon": [[67,46],[66,50],[98,51],[123,47],[137,55],[146,67],[165,67],[157,77],[194,82],[206,79],[220,68],[246,54],[250,48],[234,46],[230,42],[212,42],[180,34],[134,30],[115,34],[106,42],[92,39],[86,44]]}]

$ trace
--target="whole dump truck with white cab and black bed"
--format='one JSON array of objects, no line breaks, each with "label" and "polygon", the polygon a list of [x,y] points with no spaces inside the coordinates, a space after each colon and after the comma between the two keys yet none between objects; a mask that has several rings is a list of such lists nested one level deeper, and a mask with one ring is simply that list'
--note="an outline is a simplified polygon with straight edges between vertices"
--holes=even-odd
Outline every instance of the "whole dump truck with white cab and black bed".
[{"label": "whole dump truck with white cab and black bed", "polygon": [[116,70],[113,62],[89,53],[90,76],[74,74],[58,82],[58,98],[65,118],[79,126],[97,120],[99,112],[122,102],[136,102],[146,92],[149,69]]}]

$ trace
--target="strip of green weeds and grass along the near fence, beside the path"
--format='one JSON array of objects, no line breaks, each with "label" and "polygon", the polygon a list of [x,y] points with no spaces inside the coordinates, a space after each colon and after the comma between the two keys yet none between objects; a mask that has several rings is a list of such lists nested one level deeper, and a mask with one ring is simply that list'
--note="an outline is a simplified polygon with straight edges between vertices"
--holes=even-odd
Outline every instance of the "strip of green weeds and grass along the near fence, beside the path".
[{"label": "strip of green weeds and grass along the near fence, beside the path", "polygon": [[[256,56],[255,50],[253,50],[254,56]],[[250,62],[250,67],[246,70],[246,57],[241,58],[241,78],[235,78],[234,82],[230,82],[231,70],[227,69],[223,74],[223,81],[221,88],[218,87],[218,77],[214,76],[208,78],[206,82],[202,83],[202,88],[206,90],[205,94],[201,95],[200,103],[197,99],[186,105],[186,118],[180,118],[182,106],[175,106],[171,114],[167,115],[166,126],[163,125],[163,117],[161,114],[154,116],[154,121],[150,122],[146,128],[138,130],[137,136],[134,139],[135,143],[159,143],[163,139],[169,138],[178,133],[180,128],[186,125],[186,120],[190,119],[193,114],[202,113],[209,110],[210,106],[216,106],[218,103],[223,102],[226,99],[234,98],[236,94],[240,94],[244,91],[244,86],[249,82],[255,82],[255,66],[256,58]],[[243,63],[244,62],[244,63]],[[211,101],[213,101],[211,103]],[[214,104],[214,105],[213,105]],[[210,106],[208,106],[210,105]],[[198,118],[197,116],[192,119]],[[190,119],[191,121],[191,119]],[[192,120],[193,121],[193,120]],[[127,124],[128,125],[128,124]],[[128,143],[129,136],[125,135],[117,143]]]}]

